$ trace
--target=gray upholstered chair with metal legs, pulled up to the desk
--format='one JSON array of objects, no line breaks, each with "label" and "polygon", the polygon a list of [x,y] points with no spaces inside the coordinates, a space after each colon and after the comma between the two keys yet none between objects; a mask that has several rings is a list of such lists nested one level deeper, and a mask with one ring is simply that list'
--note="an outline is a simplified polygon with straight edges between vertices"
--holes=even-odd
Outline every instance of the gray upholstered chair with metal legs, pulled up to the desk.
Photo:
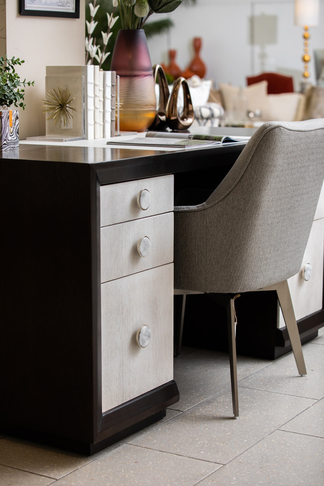
[{"label": "gray upholstered chair with metal legs, pulled up to the desk", "polygon": [[227,308],[236,417],[233,294],[276,290],[298,371],[306,374],[287,278],[300,269],[323,179],[324,119],[268,122],[206,202],[174,208],[175,293],[204,292]]}]

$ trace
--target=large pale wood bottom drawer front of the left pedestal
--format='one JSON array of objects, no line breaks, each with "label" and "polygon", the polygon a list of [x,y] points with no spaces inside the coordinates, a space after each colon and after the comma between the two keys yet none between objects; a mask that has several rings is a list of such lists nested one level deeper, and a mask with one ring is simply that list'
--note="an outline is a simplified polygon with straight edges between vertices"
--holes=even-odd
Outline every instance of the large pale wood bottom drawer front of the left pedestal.
[{"label": "large pale wood bottom drawer front of the left pedestal", "polygon": [[[173,263],[101,285],[102,412],[173,379]],[[146,325],[151,339],[136,344]]]}]

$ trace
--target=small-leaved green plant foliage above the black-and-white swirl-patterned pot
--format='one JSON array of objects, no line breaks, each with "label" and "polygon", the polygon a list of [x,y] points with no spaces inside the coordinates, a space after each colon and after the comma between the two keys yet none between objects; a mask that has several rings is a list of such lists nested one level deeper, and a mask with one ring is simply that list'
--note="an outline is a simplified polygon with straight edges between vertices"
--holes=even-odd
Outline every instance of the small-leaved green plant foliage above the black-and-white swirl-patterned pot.
[{"label": "small-leaved green plant foliage above the black-and-white swirl-patterned pot", "polygon": [[26,79],[20,81],[15,66],[21,66],[24,62],[23,60],[20,61],[19,57],[17,59],[15,57],[8,59],[7,55],[5,59],[0,57],[0,106],[9,107],[14,104],[17,107],[20,106],[23,110],[25,109],[26,104],[22,103],[25,90],[20,87],[34,86],[34,81],[26,81]]}]

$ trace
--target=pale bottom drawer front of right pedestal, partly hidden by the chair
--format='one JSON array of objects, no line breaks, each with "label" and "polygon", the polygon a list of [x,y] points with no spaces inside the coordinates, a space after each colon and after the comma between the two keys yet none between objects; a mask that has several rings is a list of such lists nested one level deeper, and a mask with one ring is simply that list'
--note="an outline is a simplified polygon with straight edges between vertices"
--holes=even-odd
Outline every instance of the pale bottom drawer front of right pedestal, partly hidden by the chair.
[{"label": "pale bottom drawer front of right pedestal, partly hidden by the chair", "polygon": [[[313,222],[302,266],[298,274],[288,279],[291,301],[296,320],[320,311],[323,305],[324,219]],[[309,280],[303,278],[303,268],[311,264]],[[285,326],[280,309],[279,328]]]}]

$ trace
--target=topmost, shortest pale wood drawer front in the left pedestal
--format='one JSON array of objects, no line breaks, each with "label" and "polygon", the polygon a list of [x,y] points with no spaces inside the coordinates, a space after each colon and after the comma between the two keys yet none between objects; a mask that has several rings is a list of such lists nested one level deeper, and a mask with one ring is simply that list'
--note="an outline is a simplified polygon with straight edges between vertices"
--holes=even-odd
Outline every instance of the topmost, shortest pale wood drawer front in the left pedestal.
[{"label": "topmost, shortest pale wood drawer front in the left pedestal", "polygon": [[100,226],[173,211],[173,174],[100,188]]}]

